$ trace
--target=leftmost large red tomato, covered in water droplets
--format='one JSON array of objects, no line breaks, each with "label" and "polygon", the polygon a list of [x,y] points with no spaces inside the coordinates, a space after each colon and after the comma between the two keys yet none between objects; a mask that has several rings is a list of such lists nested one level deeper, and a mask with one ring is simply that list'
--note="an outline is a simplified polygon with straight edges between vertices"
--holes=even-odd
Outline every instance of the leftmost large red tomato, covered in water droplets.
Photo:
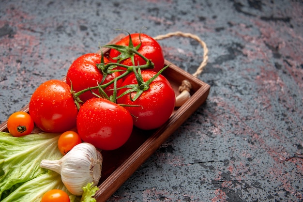
[{"label": "leftmost large red tomato, covered in water droplets", "polygon": [[30,98],[30,116],[37,127],[49,133],[62,133],[76,127],[78,109],[71,88],[61,80],[41,84]]}]

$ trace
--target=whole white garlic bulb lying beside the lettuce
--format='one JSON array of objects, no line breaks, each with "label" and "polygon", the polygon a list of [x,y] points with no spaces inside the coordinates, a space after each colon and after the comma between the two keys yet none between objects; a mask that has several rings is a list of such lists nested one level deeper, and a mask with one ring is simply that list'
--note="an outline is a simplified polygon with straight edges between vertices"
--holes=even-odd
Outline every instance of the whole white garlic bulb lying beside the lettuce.
[{"label": "whole white garlic bulb lying beside the lettuce", "polygon": [[61,174],[61,180],[74,195],[82,195],[82,187],[93,182],[96,186],[101,177],[102,155],[90,143],[77,144],[59,160],[42,160],[41,168]]}]

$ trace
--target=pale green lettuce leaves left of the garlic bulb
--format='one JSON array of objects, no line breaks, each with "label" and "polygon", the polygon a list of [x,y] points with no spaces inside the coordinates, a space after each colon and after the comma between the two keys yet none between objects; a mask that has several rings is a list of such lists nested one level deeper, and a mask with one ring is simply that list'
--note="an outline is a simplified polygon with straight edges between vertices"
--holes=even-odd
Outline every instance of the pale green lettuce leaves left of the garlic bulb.
[{"label": "pale green lettuce leaves left of the garlic bulb", "polygon": [[1,202],[39,202],[46,191],[54,188],[66,191],[71,202],[80,201],[63,185],[60,174],[40,168],[43,159],[62,157],[58,139],[58,134],[30,134],[16,138],[0,132]]}]

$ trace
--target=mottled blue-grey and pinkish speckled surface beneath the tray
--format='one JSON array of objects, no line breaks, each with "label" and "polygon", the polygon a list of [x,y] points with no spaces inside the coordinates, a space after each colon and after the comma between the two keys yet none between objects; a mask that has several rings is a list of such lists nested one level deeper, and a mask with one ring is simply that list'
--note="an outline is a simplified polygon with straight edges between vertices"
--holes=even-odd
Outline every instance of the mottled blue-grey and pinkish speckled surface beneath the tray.
[{"label": "mottled blue-grey and pinkish speckled surface beneath the tray", "polygon": [[[198,35],[205,104],[109,202],[303,201],[303,1],[0,1],[0,123],[42,82],[121,33]],[[194,73],[203,49],[159,41]]]}]

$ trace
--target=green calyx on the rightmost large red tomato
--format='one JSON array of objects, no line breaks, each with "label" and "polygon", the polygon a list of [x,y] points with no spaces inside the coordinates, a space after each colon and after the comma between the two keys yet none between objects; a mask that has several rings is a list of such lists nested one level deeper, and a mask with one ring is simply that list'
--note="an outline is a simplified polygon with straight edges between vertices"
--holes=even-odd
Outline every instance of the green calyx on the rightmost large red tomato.
[{"label": "green calyx on the rightmost large red tomato", "polygon": [[[149,90],[150,88],[150,84],[152,83],[152,81],[154,79],[156,79],[165,69],[167,69],[169,65],[163,67],[159,72],[157,72],[152,78],[148,79],[147,81],[144,81],[142,78],[142,74],[141,74],[141,69],[138,68],[138,70],[134,70],[134,74],[137,80],[137,84],[130,84],[130,85],[126,85],[126,86],[122,86],[121,88],[118,88],[118,90],[122,89],[122,88],[128,88],[128,90],[126,90],[124,93],[122,93],[121,95],[119,95],[117,97],[120,98],[122,96],[124,96],[125,94],[129,94],[130,96],[130,100],[131,101],[136,101],[136,99],[138,97],[140,97],[140,95],[144,92]],[[136,92],[135,96],[132,97],[131,93]]]}]

